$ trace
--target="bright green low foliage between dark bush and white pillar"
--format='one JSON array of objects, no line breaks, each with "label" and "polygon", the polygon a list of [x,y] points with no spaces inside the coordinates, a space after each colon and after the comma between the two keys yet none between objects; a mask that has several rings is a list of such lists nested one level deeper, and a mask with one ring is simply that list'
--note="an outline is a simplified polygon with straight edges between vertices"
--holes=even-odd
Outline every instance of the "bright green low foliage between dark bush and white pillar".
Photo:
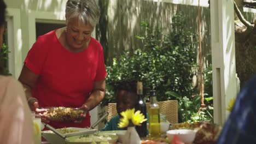
[{"label": "bright green low foliage between dark bush and white pillar", "polygon": [[[213,96],[212,96],[212,66],[209,65],[203,71],[203,83],[205,86],[204,97],[206,107],[201,107],[201,95],[195,94],[192,97],[183,97],[175,92],[168,91],[165,94],[175,97],[179,101],[178,117],[179,122],[213,122]],[[197,92],[200,93],[200,92]]]}]

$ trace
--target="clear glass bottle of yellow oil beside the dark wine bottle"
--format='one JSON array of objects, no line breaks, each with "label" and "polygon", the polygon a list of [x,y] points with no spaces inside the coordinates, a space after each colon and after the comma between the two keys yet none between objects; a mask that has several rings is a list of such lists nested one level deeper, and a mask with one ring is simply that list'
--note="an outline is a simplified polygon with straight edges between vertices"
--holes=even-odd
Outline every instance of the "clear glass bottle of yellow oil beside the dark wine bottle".
[{"label": "clear glass bottle of yellow oil beside the dark wine bottle", "polygon": [[160,137],[160,110],[158,100],[156,100],[156,91],[150,91],[150,105],[148,109],[149,115],[149,137]]}]

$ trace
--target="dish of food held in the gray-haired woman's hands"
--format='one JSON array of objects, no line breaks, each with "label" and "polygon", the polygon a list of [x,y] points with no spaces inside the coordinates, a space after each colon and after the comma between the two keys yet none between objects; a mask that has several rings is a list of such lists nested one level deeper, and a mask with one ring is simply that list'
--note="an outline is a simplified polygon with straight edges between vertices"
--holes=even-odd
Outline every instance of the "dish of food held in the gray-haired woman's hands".
[{"label": "dish of food held in the gray-haired woman's hands", "polygon": [[74,122],[81,119],[80,115],[83,113],[83,110],[74,109],[70,107],[53,107],[47,109],[44,113],[45,116],[50,116],[51,121],[56,122]]}]

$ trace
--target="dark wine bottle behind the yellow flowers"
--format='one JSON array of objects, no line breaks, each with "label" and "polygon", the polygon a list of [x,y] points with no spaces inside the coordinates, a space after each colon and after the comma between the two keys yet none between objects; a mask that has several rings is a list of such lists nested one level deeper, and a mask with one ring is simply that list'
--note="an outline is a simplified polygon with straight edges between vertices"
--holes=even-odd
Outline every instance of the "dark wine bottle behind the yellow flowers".
[{"label": "dark wine bottle behind the yellow flowers", "polygon": [[[135,104],[135,111],[140,110],[141,113],[147,117],[147,106],[144,102],[144,96],[143,96],[143,84],[142,82],[137,82],[137,101]],[[136,125],[136,130],[139,135],[139,137],[146,137],[147,136],[147,121],[143,122],[141,126]]]}]

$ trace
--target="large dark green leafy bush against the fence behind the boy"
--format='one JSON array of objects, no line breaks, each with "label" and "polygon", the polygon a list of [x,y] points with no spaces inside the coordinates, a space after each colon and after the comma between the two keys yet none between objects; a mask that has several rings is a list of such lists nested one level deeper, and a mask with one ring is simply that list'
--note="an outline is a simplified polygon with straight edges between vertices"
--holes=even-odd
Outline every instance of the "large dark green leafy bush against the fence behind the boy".
[{"label": "large dark green leafy bush against the fence behind the boy", "polygon": [[125,51],[113,58],[113,65],[106,67],[106,97],[102,105],[115,103],[115,87],[124,80],[142,81],[148,101],[148,90],[156,89],[159,101],[176,99],[165,92],[175,92],[190,98],[195,90],[191,86],[191,67],[195,64],[196,35],[185,27],[185,17],[177,14],[172,18],[172,31],[162,33],[146,22],[141,26],[144,35],[137,36],[144,44],[143,50]]}]

